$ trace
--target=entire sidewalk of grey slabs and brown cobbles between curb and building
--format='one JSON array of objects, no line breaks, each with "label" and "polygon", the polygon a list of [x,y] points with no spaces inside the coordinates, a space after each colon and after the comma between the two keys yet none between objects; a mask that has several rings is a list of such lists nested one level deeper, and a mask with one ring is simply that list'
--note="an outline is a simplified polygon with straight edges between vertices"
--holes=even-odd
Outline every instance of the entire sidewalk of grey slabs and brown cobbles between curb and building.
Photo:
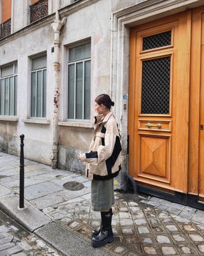
[{"label": "entire sidewalk of grey slabs and brown cobbles between curb and building", "polygon": [[[18,161],[18,157],[0,153],[0,195],[18,193]],[[64,189],[64,183],[71,180],[84,188]],[[90,186],[90,181],[80,175],[25,162],[25,198],[87,241],[91,241],[92,228],[100,224],[99,212],[91,211]],[[102,250],[115,256],[204,255],[203,211],[152,196],[115,192],[115,198],[115,239]]]}]

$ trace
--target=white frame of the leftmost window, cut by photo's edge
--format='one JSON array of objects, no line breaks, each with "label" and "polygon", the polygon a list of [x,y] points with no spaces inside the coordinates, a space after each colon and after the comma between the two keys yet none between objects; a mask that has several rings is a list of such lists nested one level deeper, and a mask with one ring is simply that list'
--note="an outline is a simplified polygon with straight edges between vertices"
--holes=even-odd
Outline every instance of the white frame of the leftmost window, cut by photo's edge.
[{"label": "white frame of the leftmost window, cut by photo's edge", "polygon": [[[11,65],[13,65],[13,75],[1,77],[2,68],[10,67]],[[4,80],[4,99],[3,99],[3,102],[4,102],[4,104],[3,104],[3,113],[4,114],[1,115],[1,112],[0,112],[0,116],[17,116],[17,86],[18,86],[18,83],[15,84],[15,77],[18,76],[18,72],[15,73],[15,65],[17,65],[17,68],[18,68],[17,61],[0,67],[0,80]],[[13,102],[12,115],[10,115],[10,78],[11,77],[13,77],[13,89],[14,89],[13,90],[13,95],[14,95],[13,100],[14,100],[14,102]],[[6,78],[8,78],[8,115],[5,115],[5,79]],[[0,88],[0,90],[1,90],[1,88]],[[1,94],[0,94],[0,96],[1,96]]]}]

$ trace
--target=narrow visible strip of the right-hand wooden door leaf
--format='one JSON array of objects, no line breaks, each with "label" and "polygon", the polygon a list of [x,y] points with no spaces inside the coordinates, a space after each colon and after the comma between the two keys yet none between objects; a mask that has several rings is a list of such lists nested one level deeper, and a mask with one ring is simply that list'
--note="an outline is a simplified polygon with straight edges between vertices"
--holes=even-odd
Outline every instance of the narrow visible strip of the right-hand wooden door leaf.
[{"label": "narrow visible strip of the right-hand wooden door leaf", "polygon": [[[192,11],[188,204],[204,205],[204,6]],[[199,205],[200,204],[200,205]]]}]

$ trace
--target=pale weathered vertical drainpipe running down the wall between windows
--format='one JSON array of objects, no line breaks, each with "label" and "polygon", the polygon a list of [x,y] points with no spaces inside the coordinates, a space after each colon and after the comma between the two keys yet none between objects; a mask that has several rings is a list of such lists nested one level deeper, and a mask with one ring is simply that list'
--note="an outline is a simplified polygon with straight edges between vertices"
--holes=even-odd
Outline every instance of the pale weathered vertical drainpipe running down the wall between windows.
[{"label": "pale weathered vertical drainpipe running down the wall between windows", "polygon": [[[57,9],[57,8],[56,8]],[[53,110],[53,132],[52,132],[52,152],[50,159],[52,160],[52,168],[57,168],[57,153],[58,153],[58,109],[59,109],[59,47],[60,47],[60,33],[62,26],[66,23],[66,18],[59,20],[59,12],[56,10],[55,20],[52,23],[54,29],[54,110]]]}]

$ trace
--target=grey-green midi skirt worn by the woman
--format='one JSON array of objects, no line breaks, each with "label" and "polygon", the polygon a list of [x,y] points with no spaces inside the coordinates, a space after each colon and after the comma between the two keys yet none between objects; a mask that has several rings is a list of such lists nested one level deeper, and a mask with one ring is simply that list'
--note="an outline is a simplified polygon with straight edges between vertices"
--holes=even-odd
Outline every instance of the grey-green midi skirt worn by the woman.
[{"label": "grey-green midi skirt worn by the woman", "polygon": [[113,179],[91,180],[91,209],[102,211],[115,204]]}]

